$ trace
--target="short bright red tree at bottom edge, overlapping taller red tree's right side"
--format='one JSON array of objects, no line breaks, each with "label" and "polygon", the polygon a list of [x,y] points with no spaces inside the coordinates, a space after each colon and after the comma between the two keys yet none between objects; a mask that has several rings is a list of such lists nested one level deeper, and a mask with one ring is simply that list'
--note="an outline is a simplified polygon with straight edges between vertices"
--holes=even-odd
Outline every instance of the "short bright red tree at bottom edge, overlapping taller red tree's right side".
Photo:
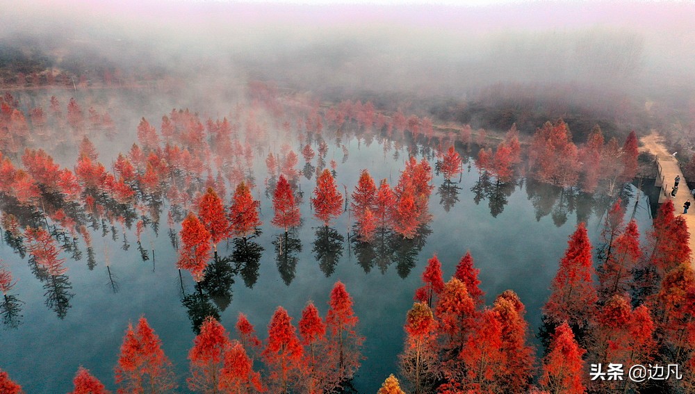
[{"label": "short bright red tree at bottom edge, overlapping taller red tree's right side", "polygon": [[236,340],[224,352],[224,367],[220,370],[220,391],[212,393],[263,393],[261,374],[253,370],[253,360],[249,358],[243,345]]}]

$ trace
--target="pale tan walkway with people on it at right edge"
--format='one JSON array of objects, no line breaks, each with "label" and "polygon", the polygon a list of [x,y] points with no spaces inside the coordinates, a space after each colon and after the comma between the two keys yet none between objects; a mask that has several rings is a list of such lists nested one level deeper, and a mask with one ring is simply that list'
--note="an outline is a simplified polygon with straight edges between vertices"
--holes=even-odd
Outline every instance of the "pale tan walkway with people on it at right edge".
[{"label": "pale tan walkway with people on it at right edge", "polygon": [[[683,215],[683,217],[685,217],[685,223],[690,231],[690,250],[695,252],[695,199],[690,195],[685,177],[683,177],[683,173],[680,172],[678,161],[666,150],[662,142],[662,137],[656,131],[652,131],[648,136],[642,137],[640,141],[642,142],[640,150],[647,151],[656,156],[657,165],[659,167],[659,172],[657,174],[659,179],[657,179],[656,185],[662,186],[659,204],[666,202],[667,199],[673,200],[676,214],[682,214],[683,204],[687,200],[690,200],[693,204],[690,206],[688,213]],[[679,190],[678,193],[676,193],[676,197],[671,197],[673,179],[675,179],[677,175],[680,176],[680,183],[678,184]]]}]

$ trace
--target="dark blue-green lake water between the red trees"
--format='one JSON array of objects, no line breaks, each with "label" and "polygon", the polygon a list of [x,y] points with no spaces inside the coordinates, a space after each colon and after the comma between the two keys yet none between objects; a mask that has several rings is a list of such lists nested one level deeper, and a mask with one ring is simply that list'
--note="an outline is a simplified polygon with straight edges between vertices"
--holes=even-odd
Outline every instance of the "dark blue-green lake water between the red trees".
[{"label": "dark blue-green lake water between the red trees", "polygon": [[[343,185],[348,193],[352,192],[362,168],[368,168],[377,180],[389,179],[391,184],[398,180],[407,157],[404,149],[384,149],[383,143],[374,141],[368,145],[357,138],[343,144],[350,153],[345,163],[337,167],[341,192]],[[343,150],[331,147],[327,158],[332,157],[340,161]],[[202,313],[202,306],[215,308],[229,331],[234,331],[238,313],[245,313],[263,339],[278,305],[288,310],[295,325],[309,300],[325,315],[332,286],[343,281],[354,299],[359,332],[366,337],[366,359],[354,378],[354,386],[360,393],[374,393],[385,377],[398,372],[405,313],[412,306],[414,291],[421,285],[427,259],[437,254],[448,279],[461,256],[470,250],[475,266],[480,268],[486,304],[491,304],[503,290],[516,291],[527,306],[530,334],[534,334],[568,236],[578,222],[585,221],[591,240],[597,243],[603,215],[612,199],[527,179],[498,184],[486,175],[481,177],[468,160],[471,165],[464,163],[460,181],[446,183],[441,175],[435,175],[435,190],[429,203],[432,221],[420,229],[415,240],[387,235],[380,243],[377,236],[373,250],[365,245],[357,247],[354,236],[348,238],[348,213],[338,217],[330,229],[321,227],[307,204],[315,179],[301,176],[303,224],[291,232],[296,260],[289,258],[280,263],[275,244],[282,231],[270,226],[272,202],[263,193],[263,182],[258,181],[254,197],[261,200],[263,220],[261,236],[253,239],[263,248],[258,266],[247,266],[236,274],[228,305],[224,300],[217,304],[199,303],[195,307],[198,310],[194,308],[192,313]],[[264,173],[261,158],[255,161],[256,174]],[[431,163],[434,167],[434,161]],[[635,216],[640,229],[651,224],[644,193],[626,186],[623,198],[627,215]],[[163,207],[164,211],[168,208],[166,204]],[[112,233],[108,223],[105,228],[90,229],[97,263],[93,270],[88,268],[88,253],[81,240],[78,245],[83,256],[79,261],[63,253],[72,284],[68,291],[74,297],[69,300],[70,306],[60,312],[65,314],[62,319],[58,318],[60,313],[47,307],[46,290],[32,274],[26,258],[20,258],[2,243],[0,257],[17,279],[13,293],[24,304],[22,324],[0,331],[0,359],[3,370],[27,393],[70,391],[79,366],[89,368],[107,388],[115,389],[113,368],[124,330],[129,321],[136,322],[141,315],[149,320],[163,342],[165,354],[172,359],[179,391],[188,392],[187,354],[195,334],[182,298],[195,294],[196,289],[188,272],[182,273],[183,281],[179,279],[175,268],[177,255],[167,236],[166,214],[161,217],[157,234],[151,225],[142,233],[140,250],[134,226],[126,233],[118,226]],[[174,230],[179,229],[177,224]],[[233,249],[234,243],[221,243],[220,256],[233,254]],[[143,261],[143,253],[147,261]],[[322,253],[333,253],[334,258],[322,258]],[[376,258],[369,258],[371,254]],[[532,340],[537,344],[537,340]]]}]

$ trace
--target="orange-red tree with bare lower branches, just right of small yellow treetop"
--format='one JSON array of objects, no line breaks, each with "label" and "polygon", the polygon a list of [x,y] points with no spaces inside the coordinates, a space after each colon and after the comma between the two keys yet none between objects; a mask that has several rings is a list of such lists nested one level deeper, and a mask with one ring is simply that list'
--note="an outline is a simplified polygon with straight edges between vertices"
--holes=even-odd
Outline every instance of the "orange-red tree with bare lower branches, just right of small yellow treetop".
[{"label": "orange-red tree with bare lower branches, just right of small yellow treetop", "polygon": [[424,302],[416,302],[405,319],[405,347],[398,356],[401,375],[409,381],[414,394],[432,391],[430,381],[437,368],[435,351],[436,321]]}]

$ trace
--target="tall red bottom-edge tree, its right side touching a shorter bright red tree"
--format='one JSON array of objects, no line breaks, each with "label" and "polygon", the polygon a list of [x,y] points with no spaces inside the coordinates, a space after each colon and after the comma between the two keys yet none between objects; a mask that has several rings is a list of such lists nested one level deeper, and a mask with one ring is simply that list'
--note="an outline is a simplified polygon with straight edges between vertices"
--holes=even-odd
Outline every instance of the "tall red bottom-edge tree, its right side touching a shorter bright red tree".
[{"label": "tall red bottom-edge tree, its right side touching a shorter bright red tree", "polygon": [[188,352],[190,375],[186,381],[192,391],[217,393],[224,353],[231,346],[229,334],[220,322],[208,316],[200,326],[200,334],[193,340]]}]

